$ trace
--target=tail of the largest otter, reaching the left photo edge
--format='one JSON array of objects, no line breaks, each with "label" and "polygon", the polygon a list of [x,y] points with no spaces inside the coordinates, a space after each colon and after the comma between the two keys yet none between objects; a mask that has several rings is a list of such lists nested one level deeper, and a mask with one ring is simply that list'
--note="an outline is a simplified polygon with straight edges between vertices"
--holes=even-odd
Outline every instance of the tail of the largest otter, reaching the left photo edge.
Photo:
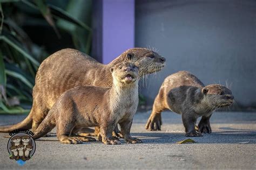
[{"label": "tail of the largest otter, reaching the left photo edge", "polygon": [[22,121],[15,125],[0,126],[0,132],[11,132],[16,129],[31,129],[32,127],[32,116],[30,114]]}]

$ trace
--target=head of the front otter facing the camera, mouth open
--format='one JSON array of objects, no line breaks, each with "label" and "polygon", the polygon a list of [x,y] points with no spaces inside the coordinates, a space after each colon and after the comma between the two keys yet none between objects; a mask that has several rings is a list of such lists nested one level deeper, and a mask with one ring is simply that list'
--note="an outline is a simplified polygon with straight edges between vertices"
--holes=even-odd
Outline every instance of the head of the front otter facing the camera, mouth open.
[{"label": "head of the front otter facing the camera, mouth open", "polygon": [[123,62],[110,69],[113,76],[113,82],[120,85],[134,84],[138,80],[139,68],[133,63]]}]

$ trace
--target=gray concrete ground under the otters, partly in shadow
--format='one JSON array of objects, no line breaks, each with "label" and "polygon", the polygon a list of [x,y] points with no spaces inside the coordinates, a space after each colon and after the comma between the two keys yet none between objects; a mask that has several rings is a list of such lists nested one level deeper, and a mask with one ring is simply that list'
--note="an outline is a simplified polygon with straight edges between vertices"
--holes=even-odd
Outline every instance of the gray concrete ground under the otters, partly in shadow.
[{"label": "gray concrete ground under the otters, partly in shadow", "polygon": [[[36,140],[36,152],[24,166],[9,159],[6,133],[0,133],[0,169],[18,168],[256,168],[256,112],[215,112],[213,133],[194,137],[197,143],[176,144],[187,139],[181,116],[164,112],[161,131],[144,129],[150,112],[138,113],[132,136],[142,144],[62,144],[56,137]],[[25,116],[0,116],[0,125],[16,123]],[[54,131],[53,131],[54,132]]]}]

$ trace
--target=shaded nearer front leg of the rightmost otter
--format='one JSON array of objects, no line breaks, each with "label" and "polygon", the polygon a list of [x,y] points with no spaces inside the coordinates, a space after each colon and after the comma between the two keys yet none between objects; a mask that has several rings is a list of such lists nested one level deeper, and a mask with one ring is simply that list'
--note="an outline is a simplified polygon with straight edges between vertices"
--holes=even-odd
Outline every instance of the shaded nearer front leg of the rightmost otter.
[{"label": "shaded nearer front leg of the rightmost otter", "polygon": [[183,113],[181,115],[183,125],[185,126],[186,137],[200,137],[203,134],[196,131],[197,118],[193,116],[194,114]]}]

